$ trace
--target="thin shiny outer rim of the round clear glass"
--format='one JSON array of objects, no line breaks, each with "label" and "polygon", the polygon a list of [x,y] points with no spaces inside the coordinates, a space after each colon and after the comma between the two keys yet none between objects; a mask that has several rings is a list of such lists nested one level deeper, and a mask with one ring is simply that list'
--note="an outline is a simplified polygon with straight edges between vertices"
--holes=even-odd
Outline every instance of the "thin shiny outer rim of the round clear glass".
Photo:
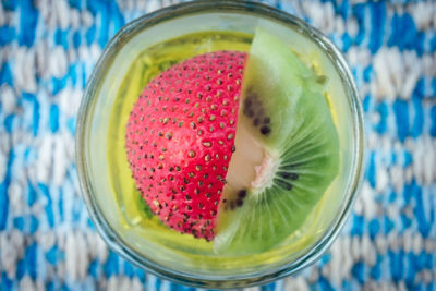
[{"label": "thin shiny outer rim of the round clear glass", "polygon": [[[320,46],[323,51],[330,59],[335,69],[338,71],[342,85],[344,86],[346,97],[349,101],[349,107],[352,112],[352,134],[353,138],[355,140],[355,146],[351,153],[353,157],[353,167],[351,169],[352,174],[350,174],[350,178],[347,181],[348,186],[344,191],[347,195],[344,201],[342,202],[344,206],[338,209],[338,213],[340,213],[330,222],[328,230],[323,234],[323,237],[318,241],[316,241],[316,243],[305,254],[300,256],[291,264],[284,264],[268,270],[238,275],[234,277],[207,277],[204,275],[189,274],[175,269],[169,269],[153,260],[145,258],[141,254],[136,253],[134,250],[131,250],[101,214],[100,206],[98,205],[98,202],[94,195],[95,191],[93,186],[93,181],[88,174],[89,167],[86,147],[84,146],[84,141],[86,141],[87,126],[89,125],[89,112],[93,109],[95,92],[98,89],[98,76],[100,76],[105,65],[107,65],[108,63],[110,65],[110,61],[116,57],[116,51],[113,51],[113,48],[117,47],[119,43],[129,40],[136,33],[146,27],[157,25],[168,20],[193,15],[201,12],[213,13],[220,11],[228,13],[262,15],[265,19],[272,19],[287,26],[293,25],[299,29],[299,33],[308,36],[312,41]],[[298,16],[278,10],[276,8],[246,0],[204,0],[184,2],[159,9],[128,23],[110,39],[108,45],[105,47],[92,72],[92,75],[89,76],[78,109],[75,137],[75,159],[77,165],[80,189],[88,209],[89,217],[93,220],[100,237],[112,251],[120,254],[122,257],[126,258],[135,266],[177,283],[201,288],[234,288],[241,286],[256,286],[259,283],[268,283],[278,280],[280,278],[300,271],[306,266],[313,264],[325,253],[325,251],[328,250],[328,247],[335,241],[336,237],[339,234],[339,231],[342,229],[342,226],[352,209],[363,178],[363,165],[365,159],[363,110],[352,73],[342,53],[331,43],[331,40],[329,40],[323,33],[320,33],[308,23],[304,22]],[[221,286],[225,282],[227,286]]]}]

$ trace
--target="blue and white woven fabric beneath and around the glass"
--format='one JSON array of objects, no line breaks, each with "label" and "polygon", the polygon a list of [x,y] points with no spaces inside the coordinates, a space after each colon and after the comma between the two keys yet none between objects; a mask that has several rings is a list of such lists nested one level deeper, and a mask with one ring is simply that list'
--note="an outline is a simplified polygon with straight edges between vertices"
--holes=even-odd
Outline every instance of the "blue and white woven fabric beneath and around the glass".
[{"label": "blue and white woven fabric beneath and around the glass", "polygon": [[[108,39],[171,0],[2,0],[0,290],[191,290],[110,252],[74,162],[83,88]],[[252,290],[435,290],[436,2],[264,1],[344,51],[366,118],[367,167],[330,251]]]}]

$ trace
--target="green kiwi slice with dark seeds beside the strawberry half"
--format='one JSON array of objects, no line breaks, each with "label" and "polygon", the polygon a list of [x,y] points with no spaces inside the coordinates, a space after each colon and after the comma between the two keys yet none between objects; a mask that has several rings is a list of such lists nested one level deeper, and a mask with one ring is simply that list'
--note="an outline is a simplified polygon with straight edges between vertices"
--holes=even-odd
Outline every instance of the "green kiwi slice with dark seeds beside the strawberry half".
[{"label": "green kiwi slice with dark seeds beside the strawberry half", "polygon": [[218,215],[217,252],[263,252],[304,222],[338,173],[325,76],[256,31],[245,66],[235,153]]}]

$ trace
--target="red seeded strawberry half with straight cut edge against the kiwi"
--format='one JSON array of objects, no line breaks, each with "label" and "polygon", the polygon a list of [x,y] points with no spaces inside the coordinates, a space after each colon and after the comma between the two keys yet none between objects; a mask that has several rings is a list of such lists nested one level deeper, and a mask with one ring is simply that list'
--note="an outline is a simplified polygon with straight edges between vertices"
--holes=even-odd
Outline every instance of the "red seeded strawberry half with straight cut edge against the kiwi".
[{"label": "red seeded strawberry half with straight cut edge against the kiwi", "polygon": [[181,233],[214,239],[245,58],[217,51],[175,64],[149,82],[130,114],[126,151],[136,185]]}]

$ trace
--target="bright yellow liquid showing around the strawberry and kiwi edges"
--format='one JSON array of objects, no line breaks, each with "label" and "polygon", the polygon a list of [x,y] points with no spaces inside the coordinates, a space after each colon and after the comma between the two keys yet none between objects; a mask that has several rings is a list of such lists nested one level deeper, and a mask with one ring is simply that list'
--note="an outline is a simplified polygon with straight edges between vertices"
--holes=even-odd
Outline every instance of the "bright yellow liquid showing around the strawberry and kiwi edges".
[{"label": "bright yellow liquid showing around the strawberry and kiwi edges", "polygon": [[[216,256],[213,243],[194,239],[189,234],[180,234],[164,226],[159,219],[152,215],[149,208],[136,190],[134,180],[128,165],[125,154],[125,124],[134,102],[141,95],[146,84],[159,72],[174,63],[196,54],[216,50],[250,51],[251,35],[229,32],[208,32],[185,35],[180,38],[155,45],[140,52],[124,76],[118,90],[116,102],[110,117],[108,133],[108,166],[113,193],[116,193],[122,225],[126,231],[137,232],[140,237],[179,250],[180,253],[192,255]],[[307,63],[307,60],[305,60]],[[307,63],[317,68],[316,63]],[[327,74],[326,72],[322,72]],[[329,97],[326,94],[327,100]],[[336,114],[332,111],[334,120]],[[325,195],[326,196],[326,195]],[[313,211],[307,215],[306,222],[301,230],[295,231],[287,239],[287,247],[298,252],[316,240],[324,228],[322,227],[320,209],[325,205],[325,197]],[[304,231],[303,231],[304,230]],[[136,237],[136,235],[135,235]],[[270,260],[279,259],[274,256]]]}]

